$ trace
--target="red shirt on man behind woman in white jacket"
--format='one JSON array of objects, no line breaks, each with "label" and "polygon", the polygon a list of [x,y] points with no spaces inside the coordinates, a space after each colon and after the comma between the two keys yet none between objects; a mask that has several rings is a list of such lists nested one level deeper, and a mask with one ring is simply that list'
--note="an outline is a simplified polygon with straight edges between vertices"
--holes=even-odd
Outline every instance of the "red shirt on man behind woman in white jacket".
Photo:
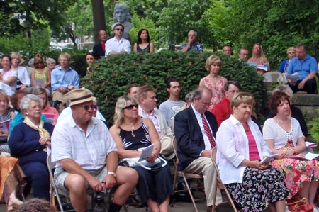
[{"label": "red shirt on man behind woman in white jacket", "polygon": [[230,101],[224,96],[224,98],[213,107],[211,112],[215,115],[217,125],[219,127],[220,123],[228,119],[232,113],[230,109]]}]

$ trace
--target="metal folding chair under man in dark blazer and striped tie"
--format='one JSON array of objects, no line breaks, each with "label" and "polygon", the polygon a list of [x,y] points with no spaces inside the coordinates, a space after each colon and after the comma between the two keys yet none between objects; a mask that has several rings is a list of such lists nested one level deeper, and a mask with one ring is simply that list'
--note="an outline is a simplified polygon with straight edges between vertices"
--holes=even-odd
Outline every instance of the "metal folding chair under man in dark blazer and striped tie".
[{"label": "metal folding chair under man in dark blazer and striped tie", "polygon": [[[194,196],[191,193],[191,191],[198,190],[198,189],[203,189],[203,186],[190,187],[189,183],[187,182],[187,179],[201,179],[201,180],[203,180],[203,175],[202,174],[193,174],[193,173],[185,172],[184,170],[179,171],[179,168],[178,168],[179,167],[179,158],[177,156],[177,140],[176,140],[176,138],[174,138],[174,140],[173,140],[173,148],[174,148],[174,153],[175,153],[175,161],[174,161],[175,170],[174,170],[174,182],[173,182],[174,191],[175,191],[175,193],[188,191],[189,192],[189,196],[191,197],[191,202],[194,205],[195,211],[198,212],[198,208],[196,206],[195,201],[203,200],[203,198],[194,199]],[[187,188],[186,190],[185,189],[184,190],[176,190],[176,188],[177,188],[177,177],[183,177],[184,183],[185,183],[186,188]],[[171,204],[171,206],[173,206],[172,204]]]}]

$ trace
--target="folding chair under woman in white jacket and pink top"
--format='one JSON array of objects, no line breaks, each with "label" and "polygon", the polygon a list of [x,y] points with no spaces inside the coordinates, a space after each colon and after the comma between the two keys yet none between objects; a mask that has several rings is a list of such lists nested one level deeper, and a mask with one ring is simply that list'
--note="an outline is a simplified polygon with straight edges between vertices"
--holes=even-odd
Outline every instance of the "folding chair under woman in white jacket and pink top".
[{"label": "folding chair under woman in white jacket and pink top", "polygon": [[238,212],[237,211],[237,208],[235,206],[235,203],[233,202],[233,198],[232,196],[230,196],[226,186],[223,184],[223,182],[221,181],[220,179],[220,174],[219,174],[219,170],[218,170],[218,166],[217,166],[217,163],[216,163],[216,153],[217,153],[217,147],[213,147],[213,150],[211,151],[211,161],[213,162],[213,166],[216,170],[216,186],[213,186],[215,189],[214,189],[214,196],[215,198],[213,199],[213,206],[212,206],[212,212],[216,211],[216,194],[217,194],[217,188],[219,188],[220,190],[224,190],[225,191],[225,194],[228,198],[228,201],[225,201],[223,203],[220,203],[220,204],[224,204],[224,203],[230,203],[230,205],[233,207],[234,211],[235,212]]}]

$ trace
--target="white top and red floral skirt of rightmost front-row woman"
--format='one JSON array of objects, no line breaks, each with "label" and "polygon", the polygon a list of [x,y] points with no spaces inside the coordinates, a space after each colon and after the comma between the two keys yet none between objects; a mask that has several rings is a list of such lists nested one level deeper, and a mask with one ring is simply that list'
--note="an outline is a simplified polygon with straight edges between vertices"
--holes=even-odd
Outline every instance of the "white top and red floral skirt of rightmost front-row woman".
[{"label": "white top and red floral skirt of rightmost front-row woman", "polygon": [[[300,125],[296,119],[291,118],[291,130],[289,132],[281,128],[272,118],[266,121],[264,125],[264,139],[274,139],[274,145],[276,148],[276,142],[279,142],[276,138],[286,138],[286,145],[284,147],[276,148],[277,150],[290,150],[291,147],[296,145],[296,140],[302,136],[300,134]],[[265,128],[266,126],[266,128]],[[273,130],[271,132],[271,130]],[[281,133],[281,136],[277,136]],[[272,136],[272,135],[274,136]],[[282,136],[284,135],[284,136]],[[274,138],[272,138],[274,137]],[[282,141],[280,141],[282,143]],[[298,154],[296,154],[298,155]],[[319,180],[319,162],[317,160],[300,160],[296,158],[282,158],[273,160],[271,162],[273,167],[280,169],[284,172],[285,182],[287,189],[289,189],[288,199],[295,196],[298,191],[301,191],[303,182],[318,181]]]}]

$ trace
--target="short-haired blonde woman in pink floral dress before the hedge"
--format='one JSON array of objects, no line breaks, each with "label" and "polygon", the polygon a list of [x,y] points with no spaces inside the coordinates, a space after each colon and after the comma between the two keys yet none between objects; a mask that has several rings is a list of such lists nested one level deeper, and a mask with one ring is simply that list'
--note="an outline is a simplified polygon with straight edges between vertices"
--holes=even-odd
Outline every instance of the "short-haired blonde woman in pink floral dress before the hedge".
[{"label": "short-haired blonde woman in pink floral dress before the hedge", "polygon": [[211,104],[208,107],[208,111],[212,111],[213,107],[223,99],[225,94],[225,84],[227,79],[218,75],[222,61],[216,55],[211,55],[206,60],[206,70],[208,75],[203,77],[199,82],[199,87],[208,87],[213,93],[211,96]]}]

